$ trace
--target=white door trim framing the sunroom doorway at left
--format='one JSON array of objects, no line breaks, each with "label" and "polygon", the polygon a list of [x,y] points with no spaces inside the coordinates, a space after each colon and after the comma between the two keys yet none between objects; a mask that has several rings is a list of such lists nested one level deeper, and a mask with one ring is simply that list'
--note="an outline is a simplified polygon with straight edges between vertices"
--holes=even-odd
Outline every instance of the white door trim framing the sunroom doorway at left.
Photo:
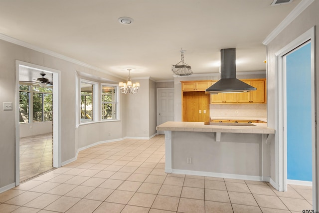
[{"label": "white door trim framing the sunroom doorway at left", "polygon": [[[56,69],[15,60],[15,84],[16,84],[16,121],[15,121],[15,185],[20,183],[20,133],[19,133],[19,66],[30,69],[43,70],[53,75],[53,167],[61,167],[61,72]],[[57,95],[54,95],[57,94]]]}]

